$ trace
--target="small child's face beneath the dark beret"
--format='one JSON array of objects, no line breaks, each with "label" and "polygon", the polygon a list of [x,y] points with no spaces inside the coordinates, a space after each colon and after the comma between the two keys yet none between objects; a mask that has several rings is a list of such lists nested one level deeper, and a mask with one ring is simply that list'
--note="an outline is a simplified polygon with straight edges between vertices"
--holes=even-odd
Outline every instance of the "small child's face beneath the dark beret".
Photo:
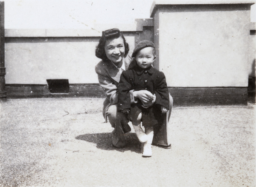
[{"label": "small child's face beneath the dark beret", "polygon": [[152,65],[156,56],[153,55],[152,47],[145,47],[141,49],[136,55],[136,61],[138,66],[143,69],[146,69]]}]

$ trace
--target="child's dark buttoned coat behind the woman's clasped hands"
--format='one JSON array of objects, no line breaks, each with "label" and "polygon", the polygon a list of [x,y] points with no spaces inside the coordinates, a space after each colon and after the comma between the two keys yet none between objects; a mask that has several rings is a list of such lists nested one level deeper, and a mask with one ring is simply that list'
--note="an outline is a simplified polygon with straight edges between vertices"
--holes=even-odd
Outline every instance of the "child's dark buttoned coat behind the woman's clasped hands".
[{"label": "child's dark buttoned coat behind the woman's clasped hands", "polygon": [[[155,94],[156,101],[153,106],[145,109],[142,107],[140,100],[138,103],[131,105],[129,91],[133,89],[134,91],[148,90],[152,94]],[[163,72],[154,69],[152,66],[148,69],[142,69],[138,65],[135,65],[131,69],[122,72],[118,90],[117,109],[129,108],[128,118],[131,121],[136,120],[139,113],[142,112],[144,126],[161,124],[163,116],[165,116],[161,113],[161,106],[169,109],[169,92]]]}]

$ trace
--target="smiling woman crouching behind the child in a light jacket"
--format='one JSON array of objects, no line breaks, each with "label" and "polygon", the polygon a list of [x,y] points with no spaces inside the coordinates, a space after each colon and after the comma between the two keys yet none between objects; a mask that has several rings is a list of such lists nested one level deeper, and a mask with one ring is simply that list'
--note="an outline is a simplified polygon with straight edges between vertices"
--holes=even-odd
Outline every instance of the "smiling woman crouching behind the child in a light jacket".
[{"label": "smiling woman crouching behind the child in a light jacket", "polygon": [[[128,55],[129,45],[119,29],[109,29],[102,32],[102,37],[96,47],[96,57],[102,60],[96,65],[95,71],[98,74],[99,85],[106,95],[103,103],[103,116],[107,118],[113,128],[112,144],[114,147],[125,147],[125,133],[131,131],[128,125],[127,114],[117,111],[118,83],[122,71],[135,64],[131,63],[132,59]],[[151,93],[147,90],[130,91],[131,103],[137,102],[137,99],[144,106],[152,105]],[[159,124],[156,127],[153,144],[170,147],[166,135],[166,125],[169,120],[172,109],[172,98],[170,98],[170,110],[166,116],[165,124]]]}]

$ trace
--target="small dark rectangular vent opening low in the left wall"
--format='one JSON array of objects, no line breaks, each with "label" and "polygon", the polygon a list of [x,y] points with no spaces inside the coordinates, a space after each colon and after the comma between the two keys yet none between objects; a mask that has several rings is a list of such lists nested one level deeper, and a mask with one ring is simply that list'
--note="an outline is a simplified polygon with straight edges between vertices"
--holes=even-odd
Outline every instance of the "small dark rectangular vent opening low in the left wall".
[{"label": "small dark rectangular vent opening low in the left wall", "polygon": [[68,79],[47,79],[46,81],[51,93],[70,92]]}]

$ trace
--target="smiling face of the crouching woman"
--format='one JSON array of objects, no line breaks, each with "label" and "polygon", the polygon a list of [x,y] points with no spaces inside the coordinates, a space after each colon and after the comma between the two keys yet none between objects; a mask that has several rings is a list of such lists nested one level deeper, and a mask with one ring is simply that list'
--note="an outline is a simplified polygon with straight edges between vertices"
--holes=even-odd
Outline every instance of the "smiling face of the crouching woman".
[{"label": "smiling face of the crouching woman", "polygon": [[113,63],[121,62],[125,55],[125,44],[122,37],[107,40],[105,43],[105,53]]}]

